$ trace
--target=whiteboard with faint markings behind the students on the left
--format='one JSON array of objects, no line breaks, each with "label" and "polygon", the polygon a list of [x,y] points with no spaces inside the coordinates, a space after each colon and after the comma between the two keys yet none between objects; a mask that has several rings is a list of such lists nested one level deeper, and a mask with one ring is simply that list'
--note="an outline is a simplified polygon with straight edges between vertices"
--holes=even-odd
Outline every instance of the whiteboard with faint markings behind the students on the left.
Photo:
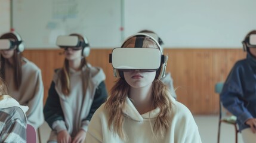
[{"label": "whiteboard with faint markings behind the students on the left", "polygon": [[70,33],[106,48],[121,44],[120,11],[119,0],[15,0],[13,26],[26,48],[57,48],[57,36]]}]

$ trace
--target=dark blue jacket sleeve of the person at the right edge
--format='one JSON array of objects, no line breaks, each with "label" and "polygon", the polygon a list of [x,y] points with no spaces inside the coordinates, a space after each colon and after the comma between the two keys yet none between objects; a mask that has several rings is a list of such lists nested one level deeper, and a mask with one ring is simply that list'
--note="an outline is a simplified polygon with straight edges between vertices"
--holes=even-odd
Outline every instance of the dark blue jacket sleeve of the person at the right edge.
[{"label": "dark blue jacket sleeve of the person at the right edge", "polygon": [[244,100],[243,87],[241,79],[243,70],[238,66],[234,66],[230,71],[226,82],[224,83],[223,90],[220,94],[220,99],[223,105],[230,113],[234,114],[241,123],[252,118],[252,115],[246,108],[246,101]]}]

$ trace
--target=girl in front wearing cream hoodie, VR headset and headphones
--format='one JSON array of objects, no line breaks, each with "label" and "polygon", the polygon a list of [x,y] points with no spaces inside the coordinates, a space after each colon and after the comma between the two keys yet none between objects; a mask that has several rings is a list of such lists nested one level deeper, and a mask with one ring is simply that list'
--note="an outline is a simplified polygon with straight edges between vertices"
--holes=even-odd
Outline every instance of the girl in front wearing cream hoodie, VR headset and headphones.
[{"label": "girl in front wearing cream hoodie, VR headset and headphones", "polygon": [[138,33],[121,47],[110,56],[119,79],[92,116],[85,142],[201,142],[189,109],[160,80],[167,57],[159,43]]}]

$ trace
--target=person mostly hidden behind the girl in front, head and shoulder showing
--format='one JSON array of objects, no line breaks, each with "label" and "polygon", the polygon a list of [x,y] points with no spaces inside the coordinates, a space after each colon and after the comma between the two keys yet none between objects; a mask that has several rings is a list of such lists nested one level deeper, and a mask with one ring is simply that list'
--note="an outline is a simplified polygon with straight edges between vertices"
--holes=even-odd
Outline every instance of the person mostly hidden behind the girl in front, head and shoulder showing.
[{"label": "person mostly hidden behind the girl in front, head and shoulder showing", "polygon": [[[145,34],[150,35],[153,38],[155,38],[156,41],[158,41],[159,45],[161,46],[162,52],[164,53],[164,48],[162,47],[164,42],[162,41],[162,39],[158,35],[156,35],[155,32],[153,32],[151,30],[141,30],[138,33],[145,33]],[[172,97],[177,99],[177,95],[175,93],[175,89],[174,89],[174,86],[173,86],[173,79],[172,79],[172,76],[171,76],[171,72],[165,73],[165,77],[163,77],[161,80],[162,80],[162,82],[165,83],[165,85],[168,86],[168,88],[169,88],[169,90],[171,92]]]}]

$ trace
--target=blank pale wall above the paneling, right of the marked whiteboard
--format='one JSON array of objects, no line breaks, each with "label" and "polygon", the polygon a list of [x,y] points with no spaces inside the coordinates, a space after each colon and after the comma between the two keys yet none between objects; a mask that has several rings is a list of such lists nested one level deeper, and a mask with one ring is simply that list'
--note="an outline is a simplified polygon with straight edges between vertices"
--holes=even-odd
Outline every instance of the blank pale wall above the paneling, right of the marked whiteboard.
[{"label": "blank pale wall above the paneling, right of the marked whiteboard", "polygon": [[255,0],[125,1],[125,35],[152,29],[168,48],[240,48],[256,29]]}]

